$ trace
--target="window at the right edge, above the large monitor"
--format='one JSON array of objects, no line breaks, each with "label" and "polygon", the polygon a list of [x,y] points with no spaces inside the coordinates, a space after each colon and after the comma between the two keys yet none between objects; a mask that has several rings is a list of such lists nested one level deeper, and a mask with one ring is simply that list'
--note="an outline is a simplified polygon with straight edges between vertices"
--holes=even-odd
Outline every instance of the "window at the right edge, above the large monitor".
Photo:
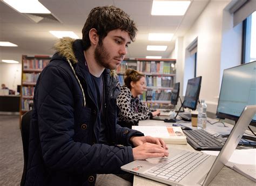
[{"label": "window at the right edge, above the large monitor", "polygon": [[243,22],[242,63],[256,60],[256,11]]}]

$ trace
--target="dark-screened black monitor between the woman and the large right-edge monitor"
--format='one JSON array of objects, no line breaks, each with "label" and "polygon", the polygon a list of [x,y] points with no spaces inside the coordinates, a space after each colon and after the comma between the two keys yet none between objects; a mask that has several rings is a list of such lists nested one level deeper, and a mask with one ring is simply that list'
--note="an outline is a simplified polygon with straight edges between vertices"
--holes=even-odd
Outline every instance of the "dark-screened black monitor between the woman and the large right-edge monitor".
[{"label": "dark-screened black monitor between the woman and the large right-edge monitor", "polygon": [[184,108],[190,108],[192,110],[197,109],[197,102],[199,98],[200,88],[201,88],[202,77],[196,77],[193,79],[188,79],[186,94],[183,102]]}]

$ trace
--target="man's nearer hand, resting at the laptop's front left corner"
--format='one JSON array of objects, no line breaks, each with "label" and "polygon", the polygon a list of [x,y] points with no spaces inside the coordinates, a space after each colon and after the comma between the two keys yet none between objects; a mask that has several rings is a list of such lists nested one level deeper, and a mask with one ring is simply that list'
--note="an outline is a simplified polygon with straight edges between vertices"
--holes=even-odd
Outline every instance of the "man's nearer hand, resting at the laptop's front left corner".
[{"label": "man's nearer hand, resting at the laptop's front left corner", "polygon": [[151,157],[169,156],[169,151],[158,144],[143,143],[132,149],[134,160],[145,160]]}]

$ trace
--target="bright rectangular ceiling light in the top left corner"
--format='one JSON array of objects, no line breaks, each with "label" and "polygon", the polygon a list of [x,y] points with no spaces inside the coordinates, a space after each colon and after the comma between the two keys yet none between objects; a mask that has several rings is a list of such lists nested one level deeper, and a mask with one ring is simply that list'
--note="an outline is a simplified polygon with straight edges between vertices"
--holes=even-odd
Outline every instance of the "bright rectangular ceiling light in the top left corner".
[{"label": "bright rectangular ceiling light in the top left corner", "polygon": [[6,4],[21,13],[51,13],[37,0],[3,0]]}]

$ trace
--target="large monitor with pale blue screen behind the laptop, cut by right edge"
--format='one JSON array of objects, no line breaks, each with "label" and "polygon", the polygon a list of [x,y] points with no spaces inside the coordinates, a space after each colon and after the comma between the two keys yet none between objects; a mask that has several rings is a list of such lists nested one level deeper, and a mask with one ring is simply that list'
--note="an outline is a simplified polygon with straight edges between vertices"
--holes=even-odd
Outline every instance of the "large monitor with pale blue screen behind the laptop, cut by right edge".
[{"label": "large monitor with pale blue screen behind the laptop, cut by right edge", "polygon": [[[217,117],[238,121],[247,105],[256,105],[256,61],[224,70]],[[256,126],[256,115],[250,125]]]}]

